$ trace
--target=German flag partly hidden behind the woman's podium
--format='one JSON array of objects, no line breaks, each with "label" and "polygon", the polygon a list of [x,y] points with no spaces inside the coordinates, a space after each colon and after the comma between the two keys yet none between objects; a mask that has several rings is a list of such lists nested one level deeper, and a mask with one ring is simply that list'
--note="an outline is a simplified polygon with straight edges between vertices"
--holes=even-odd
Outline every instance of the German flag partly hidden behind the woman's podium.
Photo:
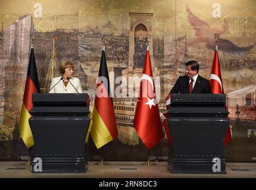
[{"label": "German flag partly hidden behind the woman's podium", "polygon": [[38,81],[38,72],[36,70],[34,49],[32,48],[29,58],[29,68],[27,69],[27,80],[25,85],[19,124],[20,136],[26,144],[27,148],[34,145],[33,135],[29,126],[29,118],[31,117],[29,110],[33,108],[33,93],[40,93],[40,87]]}]

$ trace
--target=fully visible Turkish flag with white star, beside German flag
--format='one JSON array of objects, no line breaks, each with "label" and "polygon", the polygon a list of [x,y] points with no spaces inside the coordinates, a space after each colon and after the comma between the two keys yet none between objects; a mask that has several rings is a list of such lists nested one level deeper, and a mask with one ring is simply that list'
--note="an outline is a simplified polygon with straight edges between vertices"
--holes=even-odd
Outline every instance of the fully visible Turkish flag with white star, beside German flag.
[{"label": "fully visible Turkish flag with white star, beside German flag", "polygon": [[133,124],[148,150],[163,140],[163,130],[155,97],[155,85],[148,50],[146,51]]}]

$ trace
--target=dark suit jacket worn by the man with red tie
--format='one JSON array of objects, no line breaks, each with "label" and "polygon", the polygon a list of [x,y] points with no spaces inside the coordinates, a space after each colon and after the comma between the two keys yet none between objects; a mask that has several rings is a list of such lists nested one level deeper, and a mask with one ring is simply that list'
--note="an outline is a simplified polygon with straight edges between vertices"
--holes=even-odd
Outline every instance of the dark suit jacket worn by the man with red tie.
[{"label": "dark suit jacket worn by the man with red tie", "polygon": [[[189,94],[189,77],[179,77],[170,91],[170,94],[172,93]],[[211,94],[210,82],[198,75],[192,94]]]}]

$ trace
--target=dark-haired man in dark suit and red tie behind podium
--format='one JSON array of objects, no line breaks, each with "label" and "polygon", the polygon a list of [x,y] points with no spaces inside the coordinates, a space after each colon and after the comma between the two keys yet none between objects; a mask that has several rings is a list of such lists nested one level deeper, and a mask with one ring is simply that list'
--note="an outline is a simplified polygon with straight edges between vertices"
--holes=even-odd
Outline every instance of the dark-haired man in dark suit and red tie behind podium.
[{"label": "dark-haired man in dark suit and red tie behind podium", "polygon": [[210,82],[198,74],[196,61],[186,63],[186,75],[179,77],[169,94],[211,94]]}]

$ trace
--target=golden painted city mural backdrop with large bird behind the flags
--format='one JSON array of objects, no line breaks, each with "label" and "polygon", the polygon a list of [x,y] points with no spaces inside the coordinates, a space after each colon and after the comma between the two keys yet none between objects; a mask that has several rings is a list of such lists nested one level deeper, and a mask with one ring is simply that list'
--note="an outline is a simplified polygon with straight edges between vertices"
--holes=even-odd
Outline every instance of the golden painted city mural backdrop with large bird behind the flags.
[{"label": "golden painted city mural backdrop with large bird behind the flags", "polygon": [[[199,74],[209,79],[215,39],[232,128],[225,148],[227,161],[256,160],[256,4],[248,1],[117,1],[41,0],[0,1],[0,159],[26,159],[27,149],[18,133],[29,53],[35,49],[42,92],[58,65],[76,65],[83,91],[90,95],[92,111],[95,81],[105,41],[108,71],[114,97],[118,138],[104,147],[105,160],[146,160],[147,150],[133,128],[139,83],[122,83],[141,77],[146,52],[145,36],[160,98],[160,115],[167,96],[183,75],[184,63],[195,59]],[[35,39],[35,40],[33,40]],[[159,81],[157,81],[159,80]],[[117,94],[115,94],[117,95]],[[184,131],[186,132],[186,131]],[[89,159],[98,160],[90,140]],[[167,160],[167,139],[151,150],[153,160]]]}]

